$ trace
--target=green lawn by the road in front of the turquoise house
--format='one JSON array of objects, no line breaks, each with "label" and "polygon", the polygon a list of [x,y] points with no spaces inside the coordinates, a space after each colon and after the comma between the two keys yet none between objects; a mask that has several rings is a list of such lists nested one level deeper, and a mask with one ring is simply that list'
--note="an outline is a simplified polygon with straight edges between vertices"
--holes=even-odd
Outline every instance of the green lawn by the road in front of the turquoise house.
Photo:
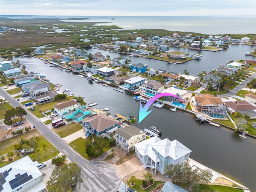
[{"label": "green lawn by the road in front of the turquoise house", "polygon": [[52,128],[52,130],[56,132],[56,134],[58,134],[59,136],[62,135],[62,137],[69,136],[72,133],[77,132],[81,129],[82,127],[80,123],[74,123],[74,122],[68,125],[60,126],[58,128]]}]

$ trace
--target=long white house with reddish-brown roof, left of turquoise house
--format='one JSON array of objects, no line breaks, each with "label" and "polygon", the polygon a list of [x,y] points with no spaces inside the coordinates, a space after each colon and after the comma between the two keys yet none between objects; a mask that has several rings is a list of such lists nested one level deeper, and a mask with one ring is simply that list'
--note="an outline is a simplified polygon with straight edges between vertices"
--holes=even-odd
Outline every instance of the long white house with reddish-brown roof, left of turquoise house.
[{"label": "long white house with reddish-brown roof, left of turquoise house", "polygon": [[78,107],[80,107],[80,103],[74,100],[70,100],[67,102],[62,102],[58,103],[57,105],[54,105],[53,109],[59,116],[63,116],[64,114],[69,113]]}]

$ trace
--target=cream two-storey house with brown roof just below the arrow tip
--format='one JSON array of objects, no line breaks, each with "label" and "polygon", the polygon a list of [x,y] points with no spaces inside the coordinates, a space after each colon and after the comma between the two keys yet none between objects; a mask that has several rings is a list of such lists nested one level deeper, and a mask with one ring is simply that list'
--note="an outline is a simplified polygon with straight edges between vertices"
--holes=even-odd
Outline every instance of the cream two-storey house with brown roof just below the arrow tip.
[{"label": "cream two-storey house with brown roof just below the arrow tip", "polygon": [[146,132],[135,126],[120,127],[114,135],[116,146],[120,145],[127,152],[134,150],[134,144],[146,140]]}]

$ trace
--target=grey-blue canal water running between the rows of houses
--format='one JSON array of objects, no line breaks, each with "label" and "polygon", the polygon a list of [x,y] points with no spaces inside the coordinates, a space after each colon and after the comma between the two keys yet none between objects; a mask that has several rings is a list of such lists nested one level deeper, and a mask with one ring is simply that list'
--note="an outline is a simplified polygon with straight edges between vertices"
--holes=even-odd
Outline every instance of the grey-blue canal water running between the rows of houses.
[{"label": "grey-blue canal water running between the rows of houses", "polygon": [[[188,52],[188,49],[173,48],[181,52]],[[151,68],[160,68],[167,71],[183,73],[184,69],[188,69],[190,74],[197,76],[202,70],[210,71],[219,64],[226,64],[230,59],[247,59],[252,57],[244,56],[246,51],[253,50],[250,46],[231,45],[229,50],[219,52],[201,51],[203,55],[200,61],[191,61],[186,64],[172,64],[166,62],[149,60],[144,58],[131,57],[132,63],[145,63]],[[89,52],[97,52],[98,50],[89,50]],[[110,55],[111,58],[121,56],[120,54],[102,51],[103,55]],[[189,50],[189,52],[195,52]],[[62,89],[68,88],[75,96],[83,96],[87,103],[96,102],[95,108],[102,109],[107,107],[114,116],[115,113],[127,116],[128,114],[135,116],[138,120],[139,102],[134,100],[134,95],[130,92],[124,94],[113,90],[112,87],[102,86],[101,84],[89,83],[86,78],[81,78],[72,73],[59,70],[58,68],[49,67],[42,60],[36,58],[14,58],[20,60],[26,65],[26,70],[38,71],[40,74],[48,74],[47,78],[53,84],[62,84]],[[249,187],[251,191],[256,191],[256,140],[250,137],[242,139],[238,133],[227,128],[217,128],[207,123],[200,124],[196,121],[196,117],[192,114],[177,110],[172,112],[166,108],[153,108],[140,124],[138,128],[149,128],[154,124],[162,130],[162,139],[177,139],[182,144],[192,150],[190,157],[222,174]]]}]

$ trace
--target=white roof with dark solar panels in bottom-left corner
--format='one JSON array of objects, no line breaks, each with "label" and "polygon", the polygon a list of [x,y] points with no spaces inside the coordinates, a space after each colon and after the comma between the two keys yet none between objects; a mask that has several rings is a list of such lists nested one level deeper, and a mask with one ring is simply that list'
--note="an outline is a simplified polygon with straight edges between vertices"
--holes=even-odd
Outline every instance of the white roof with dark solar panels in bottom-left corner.
[{"label": "white roof with dark solar panels in bottom-left corner", "polygon": [[[8,172],[8,174],[6,174],[6,176],[5,176],[6,182],[4,184],[2,184],[4,190],[2,190],[1,192],[10,192],[10,191],[16,190],[16,189],[24,186],[24,184],[27,184],[31,181],[34,182],[34,180],[37,178],[38,178],[37,180],[38,180],[39,184],[33,185],[32,187],[28,188],[26,191],[29,191],[29,192],[40,191],[40,189],[42,190],[42,189],[46,188],[44,183],[42,182],[42,173],[36,167],[36,163],[32,162],[32,160],[29,158],[29,156],[21,158],[11,164],[8,164],[8,165],[0,168],[0,172],[4,173],[5,171]],[[20,174],[20,175],[28,174],[28,176],[31,175],[32,178],[29,179],[28,181],[24,182],[24,184],[16,186],[16,188],[12,189],[9,181],[16,178],[17,174]]]}]

